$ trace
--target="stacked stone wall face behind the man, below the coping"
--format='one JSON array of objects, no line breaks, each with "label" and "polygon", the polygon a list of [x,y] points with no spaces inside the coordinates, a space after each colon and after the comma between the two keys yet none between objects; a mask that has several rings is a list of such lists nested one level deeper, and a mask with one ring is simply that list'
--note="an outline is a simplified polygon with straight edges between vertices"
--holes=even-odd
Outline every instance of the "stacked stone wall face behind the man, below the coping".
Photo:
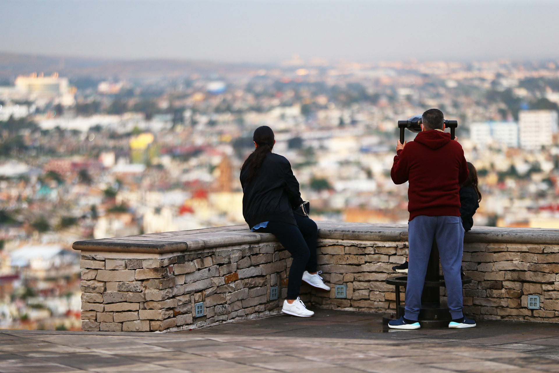
[{"label": "stacked stone wall face behind the man, below the coping", "polygon": [[[347,285],[347,299],[311,290],[301,299],[316,308],[394,313],[395,287],[387,277],[408,256],[407,242],[323,239],[319,269],[332,288]],[[559,245],[465,243],[462,266],[472,283],[463,290],[465,313],[476,319],[559,322]],[[441,272],[441,274],[443,274]],[[528,309],[539,295],[541,309]],[[405,289],[401,287],[401,300]],[[446,289],[441,289],[446,301]]]}]

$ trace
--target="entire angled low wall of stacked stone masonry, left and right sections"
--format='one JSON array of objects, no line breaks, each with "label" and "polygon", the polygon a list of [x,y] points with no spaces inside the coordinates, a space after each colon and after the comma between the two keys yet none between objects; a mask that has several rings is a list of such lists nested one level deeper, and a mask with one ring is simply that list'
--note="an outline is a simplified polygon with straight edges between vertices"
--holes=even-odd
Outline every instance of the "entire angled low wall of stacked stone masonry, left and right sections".
[{"label": "entire angled low wall of stacked stone masonry, left and right sections", "polygon": [[[363,224],[356,232],[351,224],[361,223],[319,222],[319,270],[331,290],[303,285],[301,299],[310,308],[394,313],[395,288],[385,280],[395,275],[392,266],[404,262],[408,254],[406,226]],[[174,251],[165,246],[146,251],[150,242],[164,246],[150,235],[143,235],[138,247],[128,245],[126,238],[104,240],[108,246],[103,251],[96,243],[100,240],[76,243],[74,247],[82,249],[82,329],[162,332],[280,313],[290,254],[272,235],[255,238],[246,226],[236,227],[229,229],[234,233],[182,232],[190,247],[195,247],[192,238],[197,233],[214,240],[209,244],[206,239],[206,247],[198,249]],[[173,234],[178,235],[168,235]],[[553,234],[559,238],[559,232]],[[169,237],[159,234],[157,239]],[[231,242],[240,244],[227,244]],[[477,319],[559,321],[559,240],[467,242],[463,268],[473,279],[463,290],[466,313]],[[347,298],[335,298],[335,285],[347,285]],[[279,289],[278,300],[270,300],[273,286]],[[541,309],[527,308],[528,295],[541,296]],[[445,298],[442,289],[441,300]],[[203,303],[202,317],[196,317],[196,303]]]}]

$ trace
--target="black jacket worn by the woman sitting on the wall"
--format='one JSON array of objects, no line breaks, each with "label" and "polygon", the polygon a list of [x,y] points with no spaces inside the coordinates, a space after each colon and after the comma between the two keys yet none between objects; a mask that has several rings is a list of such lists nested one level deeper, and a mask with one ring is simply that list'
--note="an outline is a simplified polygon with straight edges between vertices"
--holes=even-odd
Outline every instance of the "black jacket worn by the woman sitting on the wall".
[{"label": "black jacket worn by the woman sitting on the wall", "polygon": [[279,154],[268,153],[257,176],[247,183],[247,170],[240,174],[243,186],[243,216],[250,228],[263,221],[283,221],[297,225],[293,207],[303,203],[299,182],[291,164]]}]

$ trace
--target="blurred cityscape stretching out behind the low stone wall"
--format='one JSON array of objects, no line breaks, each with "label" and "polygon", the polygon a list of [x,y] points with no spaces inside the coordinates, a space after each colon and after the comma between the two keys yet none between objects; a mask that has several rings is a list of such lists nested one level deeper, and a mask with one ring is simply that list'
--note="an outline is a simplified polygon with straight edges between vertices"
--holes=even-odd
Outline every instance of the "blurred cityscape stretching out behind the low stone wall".
[{"label": "blurred cityscape stretching out behind the low stone wall", "polygon": [[75,240],[244,223],[260,125],[312,218],[406,223],[396,121],[440,108],[480,176],[475,225],[559,228],[559,60],[0,62],[0,328],[80,328]]}]

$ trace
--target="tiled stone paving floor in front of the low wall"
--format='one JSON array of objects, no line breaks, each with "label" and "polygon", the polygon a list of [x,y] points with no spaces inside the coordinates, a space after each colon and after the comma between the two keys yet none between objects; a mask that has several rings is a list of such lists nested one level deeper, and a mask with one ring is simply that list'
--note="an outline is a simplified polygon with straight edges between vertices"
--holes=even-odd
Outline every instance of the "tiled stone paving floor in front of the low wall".
[{"label": "tiled stone paving floor in front of the low wall", "polygon": [[379,315],[318,310],[166,334],[2,330],[0,372],[559,373],[559,325],[386,332]]}]

